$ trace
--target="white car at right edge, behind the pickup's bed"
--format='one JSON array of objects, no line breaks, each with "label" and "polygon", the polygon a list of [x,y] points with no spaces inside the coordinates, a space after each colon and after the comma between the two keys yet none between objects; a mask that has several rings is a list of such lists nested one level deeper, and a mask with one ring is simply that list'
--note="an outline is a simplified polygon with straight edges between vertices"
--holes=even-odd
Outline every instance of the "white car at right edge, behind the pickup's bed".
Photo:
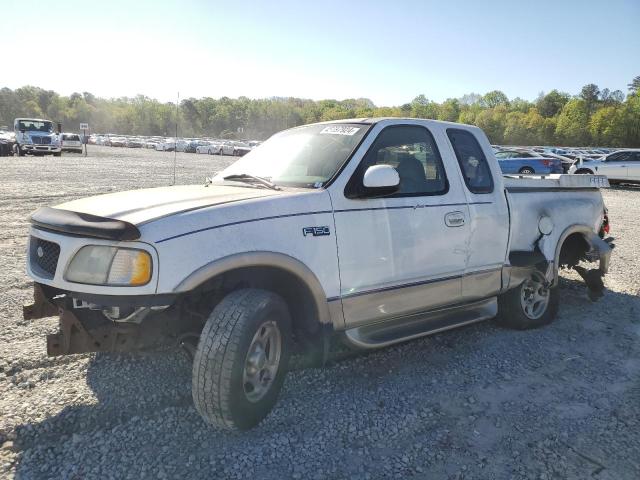
[{"label": "white car at right edge, behind the pickup's bed", "polygon": [[618,150],[600,160],[578,160],[569,173],[606,175],[609,183],[640,183],[640,149]]}]

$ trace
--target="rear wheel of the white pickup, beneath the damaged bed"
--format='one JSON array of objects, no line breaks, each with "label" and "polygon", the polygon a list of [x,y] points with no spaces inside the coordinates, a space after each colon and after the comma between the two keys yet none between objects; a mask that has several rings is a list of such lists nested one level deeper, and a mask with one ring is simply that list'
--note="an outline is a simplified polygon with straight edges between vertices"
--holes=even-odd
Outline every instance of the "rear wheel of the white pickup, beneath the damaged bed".
[{"label": "rear wheel of the white pickup, beneath the damaged bed", "polygon": [[498,297],[498,323],[516,330],[551,323],[558,314],[557,290],[551,288],[544,275],[536,270],[518,287]]}]

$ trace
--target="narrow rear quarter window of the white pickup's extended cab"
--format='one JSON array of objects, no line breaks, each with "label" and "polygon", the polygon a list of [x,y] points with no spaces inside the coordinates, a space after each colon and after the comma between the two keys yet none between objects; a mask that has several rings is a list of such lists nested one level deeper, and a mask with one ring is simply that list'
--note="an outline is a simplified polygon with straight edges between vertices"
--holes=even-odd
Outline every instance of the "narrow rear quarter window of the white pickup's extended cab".
[{"label": "narrow rear quarter window of the white pickup's extended cab", "polygon": [[476,137],[467,130],[447,129],[467,188],[473,193],[493,192],[493,176]]}]

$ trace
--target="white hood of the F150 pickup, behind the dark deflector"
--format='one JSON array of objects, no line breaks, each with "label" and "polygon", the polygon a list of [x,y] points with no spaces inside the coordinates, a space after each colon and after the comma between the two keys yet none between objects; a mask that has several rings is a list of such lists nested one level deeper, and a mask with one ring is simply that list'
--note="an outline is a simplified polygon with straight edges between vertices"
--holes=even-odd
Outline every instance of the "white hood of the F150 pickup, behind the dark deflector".
[{"label": "white hood of the F150 pickup, behind the dark deflector", "polygon": [[55,208],[140,225],[187,210],[282,194],[282,191],[251,187],[184,185],[109,193],[62,203]]}]

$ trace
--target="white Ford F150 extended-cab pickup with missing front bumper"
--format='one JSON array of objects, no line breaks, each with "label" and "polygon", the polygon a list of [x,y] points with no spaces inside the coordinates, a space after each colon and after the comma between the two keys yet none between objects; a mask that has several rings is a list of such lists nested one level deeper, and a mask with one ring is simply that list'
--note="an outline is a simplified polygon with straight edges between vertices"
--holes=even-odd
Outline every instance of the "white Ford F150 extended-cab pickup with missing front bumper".
[{"label": "white Ford F150 extended-cab pickup with missing front bumper", "polygon": [[556,315],[561,265],[599,293],[606,186],[503,177],[468,125],[293,128],[203,185],[37,210],[24,315],[60,315],[50,355],[179,338],[197,410],[246,429],[274,406],[290,353],[326,354],[332,335],[376,348],[494,317],[538,327]]}]

